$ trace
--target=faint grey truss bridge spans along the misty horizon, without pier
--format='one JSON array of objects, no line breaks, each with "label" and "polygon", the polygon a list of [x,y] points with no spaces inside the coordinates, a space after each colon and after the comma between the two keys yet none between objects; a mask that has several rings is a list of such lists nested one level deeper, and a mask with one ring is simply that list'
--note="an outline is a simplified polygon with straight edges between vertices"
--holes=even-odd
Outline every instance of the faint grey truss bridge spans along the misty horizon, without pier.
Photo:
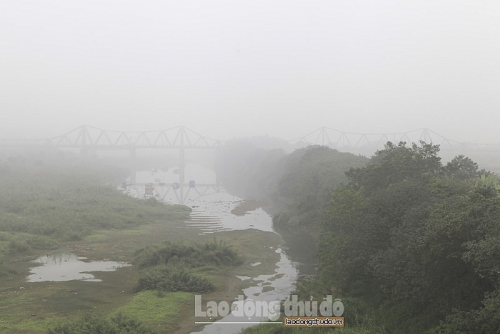
[{"label": "faint grey truss bridge spans along the misty horizon, without pier", "polygon": [[[419,141],[440,145],[442,151],[500,152],[500,144],[461,142],[446,138],[427,128],[398,133],[356,133],[328,127],[318,128],[301,137],[288,140],[295,147],[325,145],[341,151],[373,153],[391,141],[408,144]],[[0,147],[54,147],[78,148],[82,153],[92,150],[129,150],[135,156],[137,149],[217,149],[224,141],[201,135],[184,126],[158,131],[112,131],[82,125],[63,135],[47,139],[0,139]]]}]

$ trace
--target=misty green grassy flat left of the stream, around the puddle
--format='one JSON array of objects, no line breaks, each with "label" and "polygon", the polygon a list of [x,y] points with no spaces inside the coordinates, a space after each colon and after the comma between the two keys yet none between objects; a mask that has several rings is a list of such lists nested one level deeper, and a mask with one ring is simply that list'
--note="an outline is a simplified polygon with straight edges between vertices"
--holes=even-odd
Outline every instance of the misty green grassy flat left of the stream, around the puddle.
[{"label": "misty green grassy flat left of the stream, around the puddle", "polygon": [[[108,181],[75,169],[0,164],[0,333],[46,333],[89,312],[127,315],[158,333],[200,329],[194,325],[194,293],[134,292],[141,272],[136,265],[93,273],[102,282],[26,281],[30,261],[59,248],[89,261],[132,262],[138,249],[165,241],[214,241],[214,235],[186,226],[189,210],[127,198]],[[277,234],[230,231],[216,238],[233,245],[243,264],[193,268],[215,284],[204,299],[233,300],[252,284],[236,275],[274,273],[279,254],[270,247],[282,243]],[[255,262],[262,264],[250,265]]]}]

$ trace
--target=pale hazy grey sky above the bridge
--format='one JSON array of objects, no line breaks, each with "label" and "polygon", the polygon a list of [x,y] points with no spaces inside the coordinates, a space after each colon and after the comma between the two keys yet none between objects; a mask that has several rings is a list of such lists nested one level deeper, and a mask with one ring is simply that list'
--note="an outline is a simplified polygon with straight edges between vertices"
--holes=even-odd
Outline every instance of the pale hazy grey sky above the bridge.
[{"label": "pale hazy grey sky above the bridge", "polygon": [[500,142],[500,1],[0,1],[0,137]]}]

